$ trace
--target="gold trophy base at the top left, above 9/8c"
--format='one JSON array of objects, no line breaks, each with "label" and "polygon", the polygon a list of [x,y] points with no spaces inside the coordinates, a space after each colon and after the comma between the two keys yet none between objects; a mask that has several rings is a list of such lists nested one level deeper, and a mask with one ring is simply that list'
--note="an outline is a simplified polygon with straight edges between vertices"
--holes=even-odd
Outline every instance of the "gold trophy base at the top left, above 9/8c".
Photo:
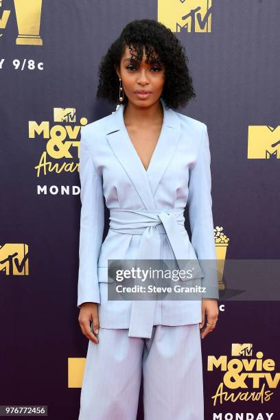
[{"label": "gold trophy base at the top left, above 9/8c", "polygon": [[42,0],[14,0],[19,36],[17,45],[43,45],[40,37]]}]

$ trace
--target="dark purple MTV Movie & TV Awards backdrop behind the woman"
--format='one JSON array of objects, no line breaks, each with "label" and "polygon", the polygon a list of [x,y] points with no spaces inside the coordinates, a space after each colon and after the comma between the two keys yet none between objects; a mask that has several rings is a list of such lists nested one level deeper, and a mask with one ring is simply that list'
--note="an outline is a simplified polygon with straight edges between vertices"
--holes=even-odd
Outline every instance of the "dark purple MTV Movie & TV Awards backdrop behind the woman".
[{"label": "dark purple MTV Movie & TV Awards backdrop behind the woman", "polygon": [[279,259],[279,16],[279,0],[0,1],[0,406],[10,413],[78,419],[80,126],[115,110],[95,98],[109,45],[128,22],[155,19],[189,58],[196,99],[178,112],[210,139],[222,264],[218,325],[202,340],[205,419],[280,419],[279,294],[266,299],[264,273],[264,295],[234,299],[246,285],[235,272],[227,288],[224,276],[233,259]]}]

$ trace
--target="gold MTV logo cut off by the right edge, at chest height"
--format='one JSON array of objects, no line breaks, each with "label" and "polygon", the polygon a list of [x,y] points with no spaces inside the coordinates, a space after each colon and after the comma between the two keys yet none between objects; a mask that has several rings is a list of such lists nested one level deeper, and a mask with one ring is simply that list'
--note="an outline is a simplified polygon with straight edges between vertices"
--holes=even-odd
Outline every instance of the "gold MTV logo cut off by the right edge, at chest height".
[{"label": "gold MTV logo cut off by the right edge, at chest height", "polygon": [[280,126],[248,126],[248,159],[280,159]]}]

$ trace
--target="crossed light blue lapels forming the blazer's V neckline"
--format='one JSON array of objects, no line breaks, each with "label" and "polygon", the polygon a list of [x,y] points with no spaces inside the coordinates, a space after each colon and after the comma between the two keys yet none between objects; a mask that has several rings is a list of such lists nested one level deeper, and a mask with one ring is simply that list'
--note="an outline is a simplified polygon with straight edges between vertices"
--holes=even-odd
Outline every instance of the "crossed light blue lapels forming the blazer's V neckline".
[{"label": "crossed light blue lapels forming the blazer's V neckline", "polygon": [[156,210],[154,193],[170,163],[180,138],[180,121],[174,110],[163,105],[163,126],[159,141],[146,171],[124,124],[124,105],[106,118],[106,139],[119,163],[135,186],[147,210]]}]

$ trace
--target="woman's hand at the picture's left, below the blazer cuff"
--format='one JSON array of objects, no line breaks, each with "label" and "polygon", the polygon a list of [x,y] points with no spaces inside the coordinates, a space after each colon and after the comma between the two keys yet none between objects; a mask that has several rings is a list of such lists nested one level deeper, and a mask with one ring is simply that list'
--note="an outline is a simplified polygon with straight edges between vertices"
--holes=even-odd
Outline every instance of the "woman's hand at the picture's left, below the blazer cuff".
[{"label": "woman's hand at the picture's left, below the blazer cuff", "polygon": [[79,314],[79,324],[82,329],[82,334],[89,338],[95,344],[98,344],[99,340],[93,331],[91,331],[90,320],[93,322],[93,331],[98,334],[99,330],[99,318],[98,318],[98,304],[93,302],[82,303]]}]

